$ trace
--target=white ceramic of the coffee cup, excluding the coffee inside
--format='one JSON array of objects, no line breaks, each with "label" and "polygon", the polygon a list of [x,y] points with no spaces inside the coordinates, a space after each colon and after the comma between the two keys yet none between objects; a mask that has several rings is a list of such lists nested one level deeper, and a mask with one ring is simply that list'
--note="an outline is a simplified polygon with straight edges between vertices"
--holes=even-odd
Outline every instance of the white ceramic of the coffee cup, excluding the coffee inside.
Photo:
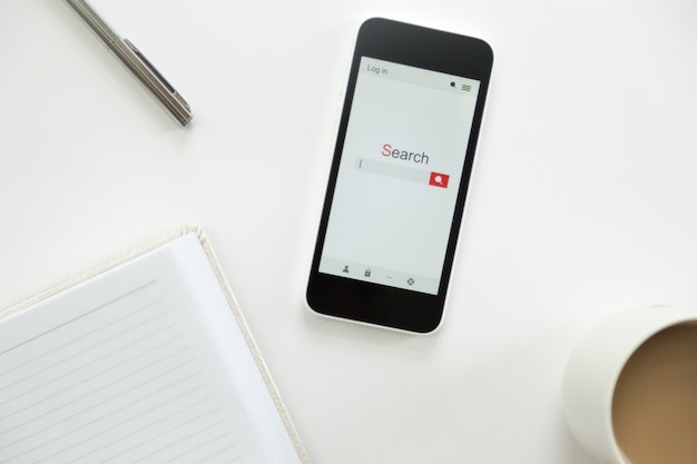
[{"label": "white ceramic of the coffee cup, excluding the coffee inside", "polygon": [[598,462],[629,464],[612,426],[612,399],[622,368],[650,337],[689,322],[697,322],[697,309],[658,305],[627,308],[587,330],[572,349],[562,385],[565,414],[578,442]]}]

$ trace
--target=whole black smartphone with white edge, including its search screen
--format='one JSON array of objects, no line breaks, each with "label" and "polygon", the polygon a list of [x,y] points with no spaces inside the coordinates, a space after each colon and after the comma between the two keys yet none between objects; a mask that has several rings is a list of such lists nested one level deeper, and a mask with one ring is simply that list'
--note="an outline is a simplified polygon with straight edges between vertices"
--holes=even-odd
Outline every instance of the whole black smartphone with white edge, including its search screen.
[{"label": "whole black smartphone with white edge, including its search screen", "polygon": [[493,52],[373,18],[359,31],[307,306],[399,330],[439,327]]}]

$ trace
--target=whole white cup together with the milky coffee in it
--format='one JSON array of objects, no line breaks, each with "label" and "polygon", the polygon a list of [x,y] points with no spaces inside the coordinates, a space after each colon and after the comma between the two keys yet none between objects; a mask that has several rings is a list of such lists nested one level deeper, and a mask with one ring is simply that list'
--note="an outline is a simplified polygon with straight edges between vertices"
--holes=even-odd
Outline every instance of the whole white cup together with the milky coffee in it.
[{"label": "whole white cup together with the milky coffee in it", "polygon": [[578,442],[603,464],[697,464],[697,309],[639,306],[587,330],[563,376]]}]

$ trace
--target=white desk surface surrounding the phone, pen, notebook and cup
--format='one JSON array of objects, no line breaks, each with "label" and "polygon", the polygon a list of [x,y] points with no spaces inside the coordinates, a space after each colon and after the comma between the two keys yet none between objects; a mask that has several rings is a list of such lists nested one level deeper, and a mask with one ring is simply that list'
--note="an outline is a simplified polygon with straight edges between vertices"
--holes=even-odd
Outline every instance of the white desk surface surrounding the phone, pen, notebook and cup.
[{"label": "white desk surface surrounding the phone, pen, notebook and cup", "polygon": [[[1,2],[0,306],[200,224],[315,463],[590,463],[560,404],[575,339],[616,308],[697,304],[694,0],[92,4],[195,119],[177,127],[65,2]],[[430,336],[303,307],[373,16],[495,55]]]}]

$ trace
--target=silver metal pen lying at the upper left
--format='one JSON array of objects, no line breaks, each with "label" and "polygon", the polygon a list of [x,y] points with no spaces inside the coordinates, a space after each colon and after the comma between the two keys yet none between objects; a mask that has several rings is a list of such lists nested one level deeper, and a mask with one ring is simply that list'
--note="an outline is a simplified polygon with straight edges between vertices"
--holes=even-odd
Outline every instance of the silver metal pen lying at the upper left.
[{"label": "silver metal pen lying at the upper left", "polygon": [[181,126],[192,120],[188,103],[128,39],[121,39],[86,1],[66,1]]}]

